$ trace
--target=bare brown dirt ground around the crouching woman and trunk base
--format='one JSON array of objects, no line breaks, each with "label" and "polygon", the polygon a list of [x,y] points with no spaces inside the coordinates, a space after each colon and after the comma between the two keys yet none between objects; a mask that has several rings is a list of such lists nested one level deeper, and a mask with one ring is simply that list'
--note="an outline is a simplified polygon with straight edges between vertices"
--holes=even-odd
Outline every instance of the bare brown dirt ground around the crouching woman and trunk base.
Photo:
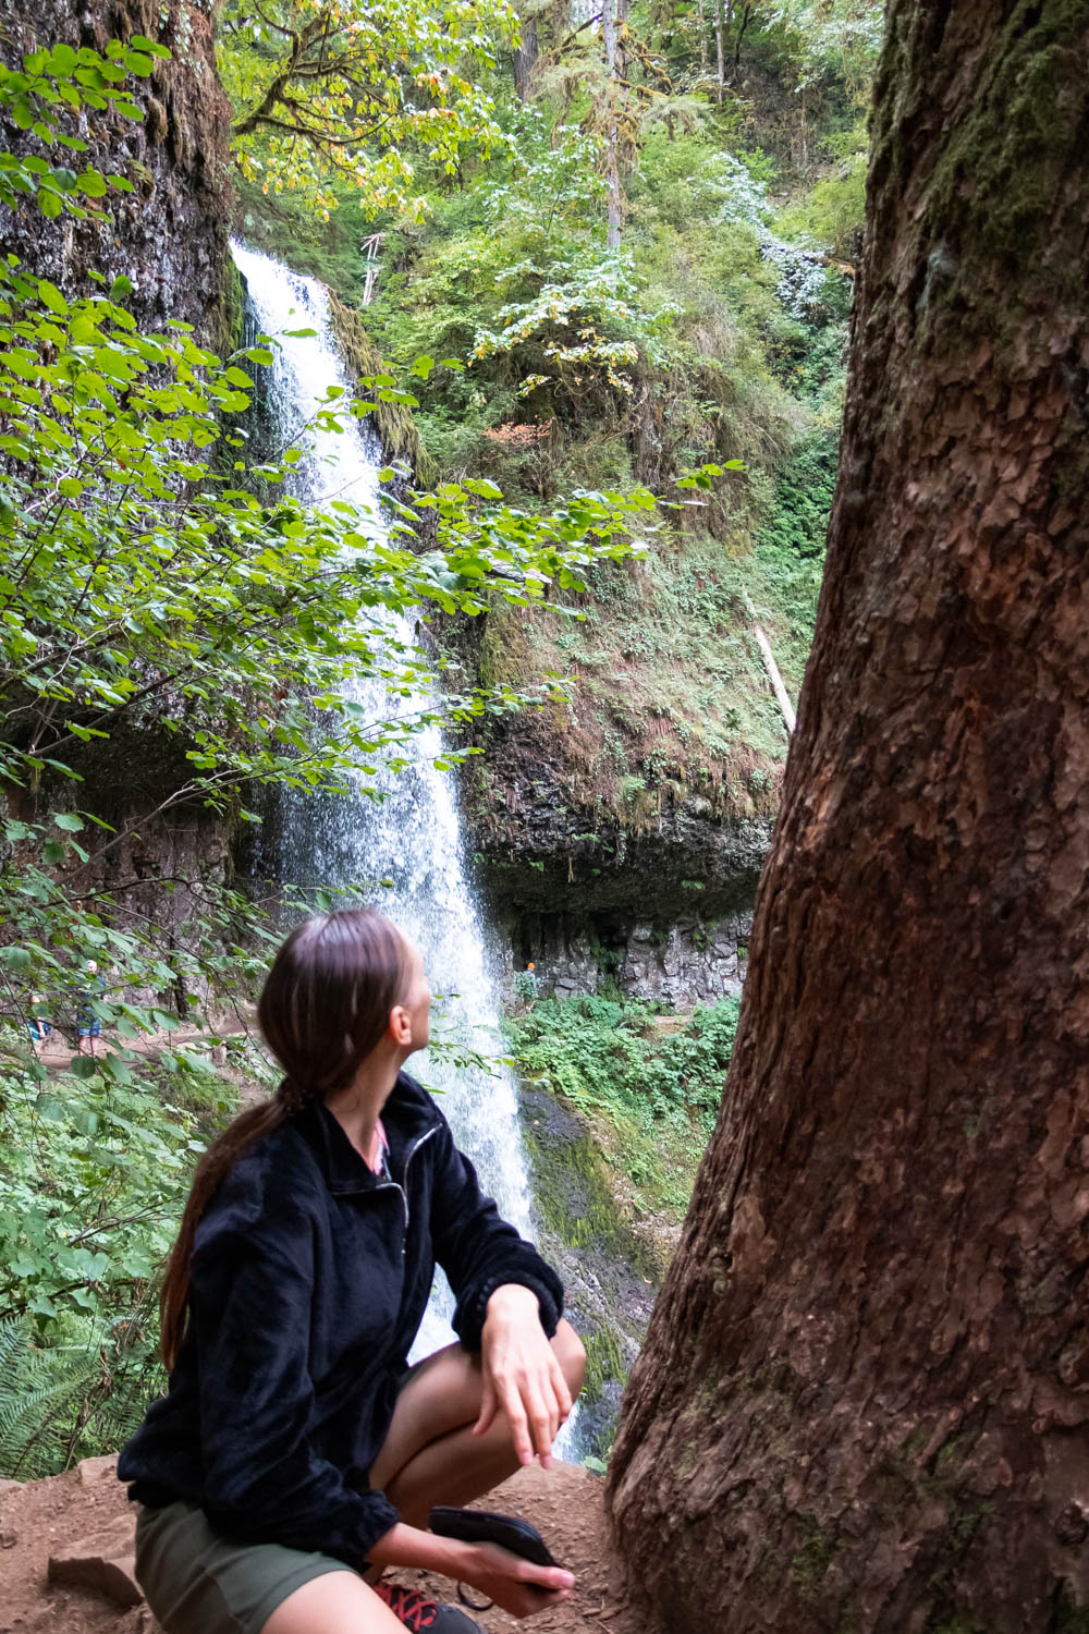
[{"label": "bare brown dirt ground around the crouching woman and trunk base", "polygon": [[[552,1554],[576,1575],[571,1598],[527,1623],[493,1609],[475,1613],[487,1634],[653,1634],[647,1616],[625,1595],[611,1556],[604,1482],[586,1469],[558,1464],[521,1471],[490,1493],[482,1508],[521,1515],[542,1533]],[[93,1538],[131,1505],[103,1459],[24,1487],[0,1490],[0,1634],[158,1634],[145,1606],[127,1611],[93,1592],[47,1582],[51,1552]],[[446,1578],[390,1574],[434,1600],[452,1600]],[[194,1631],[199,1634],[199,1631]]]}]

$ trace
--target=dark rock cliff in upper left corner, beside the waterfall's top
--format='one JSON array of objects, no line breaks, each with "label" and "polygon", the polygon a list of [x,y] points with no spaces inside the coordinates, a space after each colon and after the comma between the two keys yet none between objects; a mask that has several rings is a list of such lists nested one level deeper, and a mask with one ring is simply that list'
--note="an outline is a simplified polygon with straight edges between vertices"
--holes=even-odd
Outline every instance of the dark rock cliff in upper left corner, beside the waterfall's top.
[{"label": "dark rock cliff in upper left corner, beside the waterfall's top", "polygon": [[[69,294],[87,292],[95,268],[134,286],[134,315],[147,327],[193,324],[222,345],[229,333],[227,252],[229,108],[216,77],[209,0],[0,0],[0,54],[16,64],[28,51],[64,41],[101,51],[109,39],[145,34],[173,56],[139,82],[147,114],[82,129],[90,167],[126,175],[132,193],[109,196],[109,221],[46,221],[33,208],[5,212],[3,248]],[[18,132],[5,131],[15,145]]]}]

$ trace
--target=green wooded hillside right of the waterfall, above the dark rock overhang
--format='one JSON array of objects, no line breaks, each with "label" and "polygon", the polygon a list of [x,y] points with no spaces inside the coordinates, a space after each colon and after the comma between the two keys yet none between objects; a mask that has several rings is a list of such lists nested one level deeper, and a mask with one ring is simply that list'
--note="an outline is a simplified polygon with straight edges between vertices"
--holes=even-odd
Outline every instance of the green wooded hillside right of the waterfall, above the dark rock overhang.
[{"label": "green wooded hillside right of the waterfall, above the dark rock overhang", "polygon": [[[720,82],[712,7],[627,7],[612,88],[598,16],[524,10],[513,75],[487,82],[503,141],[456,176],[420,155],[428,212],[379,212],[377,291],[346,186],[317,227],[300,201],[268,208],[243,188],[247,227],[348,302],[374,292],[361,315],[384,356],[467,363],[420,392],[433,475],[483,472],[526,505],[640,484],[673,502],[638,569],[588,575],[581,624],[547,608],[488,619],[491,681],[578,680],[552,757],[571,809],[638,825],[692,788],[720,812],[771,810],[787,735],[753,626],[797,691],[836,467],[875,11],[727,8]],[[678,489],[700,462],[728,474]],[[488,747],[487,724],[475,740]]]}]

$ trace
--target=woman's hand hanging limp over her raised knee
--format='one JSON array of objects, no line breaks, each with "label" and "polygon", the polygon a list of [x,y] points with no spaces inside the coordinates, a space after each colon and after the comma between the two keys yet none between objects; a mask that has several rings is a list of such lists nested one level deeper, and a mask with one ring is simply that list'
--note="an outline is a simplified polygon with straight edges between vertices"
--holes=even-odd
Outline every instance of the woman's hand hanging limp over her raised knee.
[{"label": "woman's hand hanging limp over her raised knee", "polygon": [[542,1467],[549,1469],[552,1443],[571,1412],[571,1394],[540,1327],[537,1296],[529,1288],[504,1283],[491,1294],[480,1361],[483,1395],[472,1433],[483,1435],[495,1415],[503,1412],[519,1461],[532,1464],[536,1453]]}]

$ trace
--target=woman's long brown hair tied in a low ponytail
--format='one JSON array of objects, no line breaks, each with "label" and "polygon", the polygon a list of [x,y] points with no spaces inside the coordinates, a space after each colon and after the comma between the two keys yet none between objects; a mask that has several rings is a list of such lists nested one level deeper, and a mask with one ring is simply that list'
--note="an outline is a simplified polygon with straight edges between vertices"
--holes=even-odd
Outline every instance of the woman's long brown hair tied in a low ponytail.
[{"label": "woman's long brown hair tied in a low ponytail", "polygon": [[284,1069],[276,1095],[240,1113],[193,1176],[158,1296],[160,1343],[173,1368],[184,1338],[189,1261],[201,1217],[230,1165],[307,1101],[343,1090],[408,993],[408,944],[382,913],[340,909],[296,925],[258,1000],[264,1039]]}]

